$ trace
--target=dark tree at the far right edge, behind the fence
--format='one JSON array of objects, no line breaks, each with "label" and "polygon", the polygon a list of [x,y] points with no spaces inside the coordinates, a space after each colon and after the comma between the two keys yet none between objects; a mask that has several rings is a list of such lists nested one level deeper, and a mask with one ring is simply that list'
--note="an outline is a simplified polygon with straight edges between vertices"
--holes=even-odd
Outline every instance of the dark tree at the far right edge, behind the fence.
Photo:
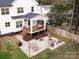
[{"label": "dark tree at the far right edge, behind the fence", "polygon": [[75,31],[74,33],[77,34],[78,28],[79,28],[79,0],[74,0],[75,7],[74,9],[74,16],[73,16],[73,23],[75,25]]}]

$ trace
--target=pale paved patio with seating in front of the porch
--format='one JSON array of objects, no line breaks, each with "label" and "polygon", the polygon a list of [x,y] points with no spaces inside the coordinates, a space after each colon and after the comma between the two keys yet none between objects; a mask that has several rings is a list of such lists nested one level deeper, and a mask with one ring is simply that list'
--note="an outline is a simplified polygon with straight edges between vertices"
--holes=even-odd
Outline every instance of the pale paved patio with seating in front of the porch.
[{"label": "pale paved patio with seating in front of the porch", "polygon": [[17,35],[16,38],[22,42],[22,46],[20,46],[20,48],[29,57],[35,56],[47,48],[54,50],[65,43],[54,37],[51,37],[51,40],[48,40],[48,36],[38,40],[32,39],[30,41],[24,41],[20,35]]}]

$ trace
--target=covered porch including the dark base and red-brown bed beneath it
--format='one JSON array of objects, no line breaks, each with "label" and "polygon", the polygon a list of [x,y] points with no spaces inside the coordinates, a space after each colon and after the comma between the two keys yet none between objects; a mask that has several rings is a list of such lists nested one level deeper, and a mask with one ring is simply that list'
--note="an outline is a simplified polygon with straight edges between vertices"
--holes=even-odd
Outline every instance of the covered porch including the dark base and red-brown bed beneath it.
[{"label": "covered porch including the dark base and red-brown bed beneath it", "polygon": [[[24,37],[24,40],[28,41],[30,39],[39,39],[46,36],[44,33],[46,30],[46,23],[48,20],[47,16],[28,13],[25,15],[25,28],[29,28],[29,34]],[[31,37],[31,38],[30,38]]]}]

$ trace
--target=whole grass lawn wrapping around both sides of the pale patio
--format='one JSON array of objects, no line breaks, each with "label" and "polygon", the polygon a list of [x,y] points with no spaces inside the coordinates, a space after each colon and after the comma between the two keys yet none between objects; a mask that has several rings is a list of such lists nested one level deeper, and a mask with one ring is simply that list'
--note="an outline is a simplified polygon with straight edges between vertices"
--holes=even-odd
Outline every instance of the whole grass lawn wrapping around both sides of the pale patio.
[{"label": "whole grass lawn wrapping around both sides of the pale patio", "polygon": [[[17,59],[79,59],[79,43],[73,43],[72,41],[60,37],[56,34],[53,36],[57,37],[58,39],[62,39],[66,43],[55,50],[46,49],[45,51],[31,58],[28,58],[27,55],[21,51],[20,48],[16,48],[13,51],[15,51],[16,54],[19,56],[19,58]],[[0,52],[0,59],[11,59],[11,56],[14,55],[10,53],[10,50],[12,50],[12,46],[9,44],[6,45],[6,49],[8,49],[9,51]]]}]

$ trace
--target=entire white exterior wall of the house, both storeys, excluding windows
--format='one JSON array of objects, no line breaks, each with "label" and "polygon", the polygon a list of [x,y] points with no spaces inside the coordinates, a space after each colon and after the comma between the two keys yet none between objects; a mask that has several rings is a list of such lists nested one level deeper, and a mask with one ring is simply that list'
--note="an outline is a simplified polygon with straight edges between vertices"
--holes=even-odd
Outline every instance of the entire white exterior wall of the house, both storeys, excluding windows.
[{"label": "entire white exterior wall of the house, both storeys, excluding windows", "polygon": [[[34,7],[34,13],[39,13],[38,3],[35,0],[15,0],[12,7],[0,7],[0,32],[7,34],[11,32],[18,32],[22,29],[16,28],[16,21],[22,20],[24,26],[24,19],[12,19],[11,16],[24,15],[31,12],[31,7]],[[17,7],[23,7],[24,13],[17,13]],[[9,15],[1,15],[1,8],[9,8]],[[10,27],[5,27],[5,22],[10,22]]]}]

